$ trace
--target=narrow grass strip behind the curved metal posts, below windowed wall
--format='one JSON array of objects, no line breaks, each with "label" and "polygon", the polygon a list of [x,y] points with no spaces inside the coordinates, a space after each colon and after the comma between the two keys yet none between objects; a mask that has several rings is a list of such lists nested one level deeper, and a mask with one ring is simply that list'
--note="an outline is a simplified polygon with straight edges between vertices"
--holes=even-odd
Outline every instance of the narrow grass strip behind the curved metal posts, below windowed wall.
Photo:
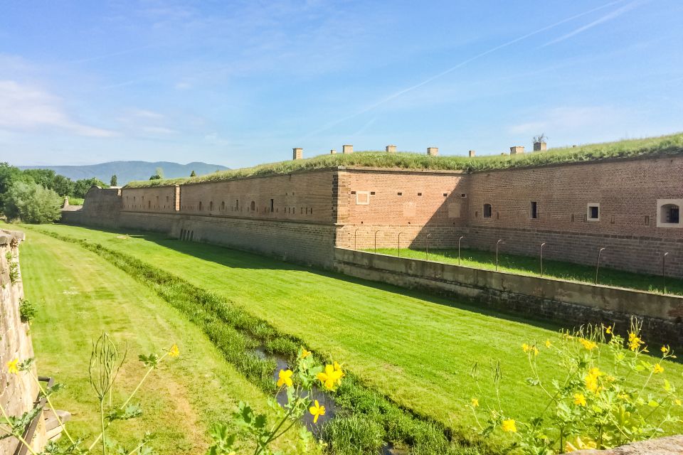
[{"label": "narrow grass strip behind the curved metal posts, below windowed wall", "polygon": [[[373,252],[373,249],[366,250]],[[378,248],[378,253],[383,255],[398,255],[396,248]],[[414,257],[415,259],[425,259],[425,250],[412,250],[401,248],[401,257]],[[457,248],[455,249],[434,249],[429,250],[429,260],[435,262],[446,262],[457,264]],[[495,252],[482,250],[460,250],[460,261],[465,267],[475,269],[496,269]],[[540,262],[538,257],[521,255],[506,255],[499,253],[498,269],[501,272],[509,272],[520,275],[539,276]],[[595,266],[572,264],[571,262],[551,261],[543,259],[543,276],[546,278],[565,279],[571,282],[595,283]],[[608,286],[625,287],[629,289],[640,289],[668,294],[683,294],[683,279],[667,277],[656,277],[654,275],[637,274],[623,272],[622,270],[600,267],[599,284]]]}]

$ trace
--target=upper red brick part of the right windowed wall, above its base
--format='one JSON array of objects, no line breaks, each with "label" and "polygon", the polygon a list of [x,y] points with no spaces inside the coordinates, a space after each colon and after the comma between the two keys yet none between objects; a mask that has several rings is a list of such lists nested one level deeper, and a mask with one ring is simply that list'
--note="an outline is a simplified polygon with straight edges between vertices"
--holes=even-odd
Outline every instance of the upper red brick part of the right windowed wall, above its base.
[{"label": "upper red brick part of the right windowed wall, above its base", "polygon": [[[656,223],[657,199],[683,198],[683,156],[479,172],[470,179],[472,227],[683,238],[683,229]],[[536,220],[529,217],[531,201],[538,203]],[[485,203],[492,218],[482,217]],[[588,203],[600,204],[599,221],[584,221]]]}]

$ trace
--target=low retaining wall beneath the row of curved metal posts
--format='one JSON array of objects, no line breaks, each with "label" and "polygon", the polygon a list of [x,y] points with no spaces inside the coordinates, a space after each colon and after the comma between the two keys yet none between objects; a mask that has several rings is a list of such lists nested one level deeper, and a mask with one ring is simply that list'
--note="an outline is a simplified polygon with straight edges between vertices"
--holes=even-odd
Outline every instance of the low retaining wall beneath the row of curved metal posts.
[{"label": "low retaining wall beneath the row of curved metal posts", "polygon": [[563,326],[585,323],[628,328],[630,316],[643,321],[650,342],[683,347],[683,297],[615,287],[526,277],[443,262],[375,255],[334,248],[334,268],[354,277],[456,295],[501,311]]}]

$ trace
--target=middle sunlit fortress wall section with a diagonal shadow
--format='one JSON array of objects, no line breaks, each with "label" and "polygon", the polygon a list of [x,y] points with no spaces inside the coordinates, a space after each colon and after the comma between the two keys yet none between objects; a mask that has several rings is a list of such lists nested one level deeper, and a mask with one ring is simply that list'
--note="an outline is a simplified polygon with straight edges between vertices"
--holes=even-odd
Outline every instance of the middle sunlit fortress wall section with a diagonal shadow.
[{"label": "middle sunlit fortress wall section with a diagonal shadow", "polygon": [[401,247],[457,243],[467,225],[468,178],[456,171],[340,170],[336,245],[396,248],[399,233]]}]

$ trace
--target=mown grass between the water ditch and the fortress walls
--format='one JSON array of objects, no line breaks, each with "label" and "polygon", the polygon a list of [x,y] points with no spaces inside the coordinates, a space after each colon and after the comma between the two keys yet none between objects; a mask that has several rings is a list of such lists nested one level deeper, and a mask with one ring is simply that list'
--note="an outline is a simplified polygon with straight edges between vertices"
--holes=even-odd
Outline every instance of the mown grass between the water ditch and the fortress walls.
[{"label": "mown grass between the water ditch and the fortress walls", "polygon": [[[472,423],[467,405],[471,397],[481,397],[469,376],[475,362],[486,370],[500,361],[501,400],[510,414],[528,418],[545,404],[541,392],[526,385],[530,372],[521,344],[553,339],[556,326],[164,235],[124,237],[65,225],[36,229],[99,242],[226,296],[314,350],[333,355],[400,405],[454,429]],[[667,362],[665,368],[669,380],[682,388],[682,365]],[[542,351],[539,370],[554,375],[556,359]]]}]

